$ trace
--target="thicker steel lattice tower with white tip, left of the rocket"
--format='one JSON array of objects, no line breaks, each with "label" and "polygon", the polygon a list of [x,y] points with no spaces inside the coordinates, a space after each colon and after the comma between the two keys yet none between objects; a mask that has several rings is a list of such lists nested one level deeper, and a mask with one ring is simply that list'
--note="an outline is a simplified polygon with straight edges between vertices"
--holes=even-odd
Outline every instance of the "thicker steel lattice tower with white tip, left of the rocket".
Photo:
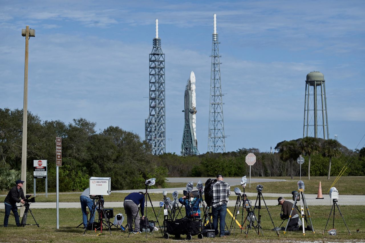
[{"label": "thicker steel lattice tower with white tip, left of the rocket", "polygon": [[165,54],[158,38],[158,19],[156,19],[156,38],[150,53],[150,91],[149,116],[145,119],[146,140],[152,146],[152,154],[166,152],[165,128]]}]

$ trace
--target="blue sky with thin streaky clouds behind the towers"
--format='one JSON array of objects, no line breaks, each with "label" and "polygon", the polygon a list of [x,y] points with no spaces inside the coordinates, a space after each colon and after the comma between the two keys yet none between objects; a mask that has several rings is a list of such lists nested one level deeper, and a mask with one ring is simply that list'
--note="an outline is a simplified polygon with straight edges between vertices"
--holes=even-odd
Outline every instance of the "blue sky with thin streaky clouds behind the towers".
[{"label": "blue sky with thin streaky clouds behind the towers", "polygon": [[[306,75],[324,74],[330,138],[354,149],[365,133],[364,1],[0,0],[0,107],[42,120],[85,118],[144,139],[149,53],[159,20],[166,58],[166,151],[180,154],[184,90],[196,76],[197,139],[207,151],[213,14],[217,15],[226,151],[303,136]],[[172,138],[172,142],[168,142]],[[362,140],[358,148],[364,146]]]}]

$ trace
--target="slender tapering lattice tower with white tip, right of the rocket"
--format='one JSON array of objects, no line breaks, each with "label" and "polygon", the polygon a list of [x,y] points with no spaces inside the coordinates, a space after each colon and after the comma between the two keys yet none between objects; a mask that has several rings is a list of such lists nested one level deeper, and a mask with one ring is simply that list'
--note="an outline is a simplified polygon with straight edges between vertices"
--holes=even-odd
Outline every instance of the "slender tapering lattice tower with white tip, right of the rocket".
[{"label": "slender tapering lattice tower with white tip, right of the rocket", "polygon": [[212,35],[212,64],[210,73],[210,103],[209,103],[209,125],[208,125],[208,152],[224,153],[226,144],[224,142],[223,125],[223,101],[222,86],[220,82],[220,62],[218,34],[216,28],[216,15],[214,14],[214,32]]}]

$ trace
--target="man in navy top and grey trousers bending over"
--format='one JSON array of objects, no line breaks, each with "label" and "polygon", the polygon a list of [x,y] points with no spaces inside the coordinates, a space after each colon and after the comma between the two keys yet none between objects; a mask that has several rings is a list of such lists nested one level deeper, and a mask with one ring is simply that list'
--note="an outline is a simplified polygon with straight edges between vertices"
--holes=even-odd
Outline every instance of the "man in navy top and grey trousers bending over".
[{"label": "man in navy top and grey trousers bending over", "polygon": [[[141,204],[141,214],[142,220],[145,218],[145,194],[143,192],[132,192],[124,198],[123,206],[127,215],[127,225],[128,230],[133,233],[141,233],[139,231],[139,215],[138,215],[138,205]],[[134,220],[134,230],[132,228],[132,223]]]}]

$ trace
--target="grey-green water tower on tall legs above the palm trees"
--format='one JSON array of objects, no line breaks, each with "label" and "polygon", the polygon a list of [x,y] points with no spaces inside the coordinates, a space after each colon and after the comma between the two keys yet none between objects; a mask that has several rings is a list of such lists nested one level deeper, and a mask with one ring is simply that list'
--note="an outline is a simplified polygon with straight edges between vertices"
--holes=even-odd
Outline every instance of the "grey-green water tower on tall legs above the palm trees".
[{"label": "grey-green water tower on tall legs above the palm trees", "polygon": [[329,138],[326,85],[323,73],[310,72],[307,74],[304,96],[303,138],[305,136],[318,138],[322,133],[323,139]]}]

